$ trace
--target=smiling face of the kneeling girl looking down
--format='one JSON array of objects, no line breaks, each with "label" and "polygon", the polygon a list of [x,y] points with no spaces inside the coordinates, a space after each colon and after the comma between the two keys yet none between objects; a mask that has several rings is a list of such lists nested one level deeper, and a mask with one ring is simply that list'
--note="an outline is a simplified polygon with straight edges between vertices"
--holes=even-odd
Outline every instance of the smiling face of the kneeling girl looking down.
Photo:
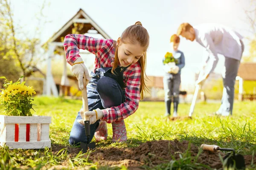
[{"label": "smiling face of the kneeling girl looking down", "polygon": [[[117,41],[117,43],[119,43]],[[143,57],[144,49],[140,44],[131,44],[121,42],[118,47],[117,55],[122,67],[128,67],[131,64],[136,63],[140,57]]]}]

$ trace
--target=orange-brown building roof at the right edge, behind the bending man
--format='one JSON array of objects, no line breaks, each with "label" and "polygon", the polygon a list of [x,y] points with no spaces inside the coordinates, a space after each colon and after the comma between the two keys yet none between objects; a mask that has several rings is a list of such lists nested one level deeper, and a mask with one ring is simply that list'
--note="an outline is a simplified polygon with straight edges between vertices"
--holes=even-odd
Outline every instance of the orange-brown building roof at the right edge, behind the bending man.
[{"label": "orange-brown building roof at the right edge, behind the bending man", "polygon": [[237,76],[244,80],[256,81],[256,62],[241,63]]}]

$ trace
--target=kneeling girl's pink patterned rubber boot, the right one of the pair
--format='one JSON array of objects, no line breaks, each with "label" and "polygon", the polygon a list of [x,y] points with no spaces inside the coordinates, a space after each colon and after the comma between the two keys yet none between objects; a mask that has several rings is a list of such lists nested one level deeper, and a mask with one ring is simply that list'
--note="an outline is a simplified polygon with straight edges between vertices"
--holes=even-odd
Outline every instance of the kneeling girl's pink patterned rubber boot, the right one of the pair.
[{"label": "kneeling girl's pink patterned rubber boot, the right one of the pair", "polygon": [[127,133],[125,128],[125,121],[120,120],[112,122],[113,137],[112,142],[125,142],[127,141]]}]

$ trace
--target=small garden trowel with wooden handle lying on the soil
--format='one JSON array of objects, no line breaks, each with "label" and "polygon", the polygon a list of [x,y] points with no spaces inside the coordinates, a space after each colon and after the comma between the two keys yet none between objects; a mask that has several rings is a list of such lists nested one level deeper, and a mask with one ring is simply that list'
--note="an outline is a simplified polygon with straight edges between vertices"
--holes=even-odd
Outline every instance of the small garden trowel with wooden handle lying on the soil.
[{"label": "small garden trowel with wooden handle lying on the soil", "polygon": [[241,154],[236,154],[233,148],[221,148],[215,144],[201,144],[201,148],[203,148],[203,150],[208,150],[211,152],[217,152],[218,150],[232,151],[223,158],[223,160],[227,159],[226,167],[232,168],[235,164],[237,170],[245,170],[244,156],[242,156]]}]

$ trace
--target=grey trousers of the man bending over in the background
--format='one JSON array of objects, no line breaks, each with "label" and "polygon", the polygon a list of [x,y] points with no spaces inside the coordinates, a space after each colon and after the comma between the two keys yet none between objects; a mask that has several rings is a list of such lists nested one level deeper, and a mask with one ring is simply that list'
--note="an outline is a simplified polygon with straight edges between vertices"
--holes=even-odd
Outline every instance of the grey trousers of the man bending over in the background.
[{"label": "grey trousers of the man bending over in the background", "polygon": [[223,78],[223,94],[221,99],[221,107],[218,112],[222,116],[232,115],[236,75],[239,69],[240,61],[225,57],[225,67],[222,72]]}]

